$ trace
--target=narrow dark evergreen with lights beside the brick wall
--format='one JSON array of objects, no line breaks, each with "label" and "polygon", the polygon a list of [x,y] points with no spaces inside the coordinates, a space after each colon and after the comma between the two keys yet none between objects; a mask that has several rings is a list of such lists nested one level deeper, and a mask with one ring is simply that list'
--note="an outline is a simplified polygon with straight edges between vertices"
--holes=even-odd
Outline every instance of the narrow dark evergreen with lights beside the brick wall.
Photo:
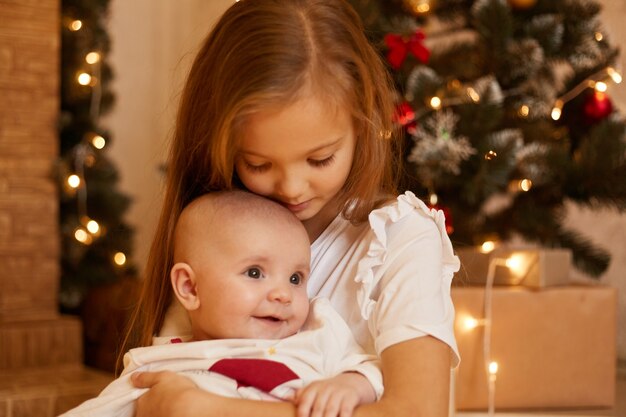
[{"label": "narrow dark evergreen with lights beside the brick wall", "polygon": [[106,155],[110,134],[100,116],[112,108],[107,64],[108,0],[63,0],[61,44],[60,192],[63,311],[80,306],[94,287],[132,276],[129,198],[117,187]]}]

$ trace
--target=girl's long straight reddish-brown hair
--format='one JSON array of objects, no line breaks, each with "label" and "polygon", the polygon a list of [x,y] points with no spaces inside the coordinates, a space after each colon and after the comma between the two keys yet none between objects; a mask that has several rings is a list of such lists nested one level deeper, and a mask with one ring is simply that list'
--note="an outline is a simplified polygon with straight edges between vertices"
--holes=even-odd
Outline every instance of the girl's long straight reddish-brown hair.
[{"label": "girl's long straight reddish-brown hair", "polygon": [[234,161],[246,117],[293,103],[304,85],[349,106],[354,119],[355,157],[341,197],[356,204],[344,216],[364,221],[381,196],[395,193],[392,82],[356,12],[343,0],[233,4],[206,38],[181,96],[164,204],[124,351],[150,345],[161,328],[183,207],[200,194],[241,186]]}]

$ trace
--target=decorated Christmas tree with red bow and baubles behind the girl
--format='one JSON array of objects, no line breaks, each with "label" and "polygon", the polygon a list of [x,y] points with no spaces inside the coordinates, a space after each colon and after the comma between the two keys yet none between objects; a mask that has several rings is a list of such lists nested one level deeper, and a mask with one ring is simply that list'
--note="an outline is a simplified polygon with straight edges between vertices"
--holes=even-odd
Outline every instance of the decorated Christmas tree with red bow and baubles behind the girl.
[{"label": "decorated Christmas tree with red bow and baubles behind the girl", "polygon": [[352,0],[387,60],[403,186],[442,208],[457,245],[521,237],[608,252],[563,226],[565,203],[626,209],[618,51],[592,0]]}]

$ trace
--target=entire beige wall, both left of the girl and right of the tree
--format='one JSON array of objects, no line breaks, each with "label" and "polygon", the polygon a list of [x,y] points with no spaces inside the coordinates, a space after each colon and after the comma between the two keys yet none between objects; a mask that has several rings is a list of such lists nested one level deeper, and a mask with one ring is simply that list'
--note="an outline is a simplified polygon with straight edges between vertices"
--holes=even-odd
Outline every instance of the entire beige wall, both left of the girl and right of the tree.
[{"label": "entire beige wall, both left of the girl and right of the tree", "polygon": [[[111,63],[116,72],[117,105],[108,119],[114,135],[110,152],[122,188],[134,198],[128,220],[137,228],[136,260],[143,265],[160,207],[167,138],[176,98],[193,52],[212,22],[234,0],[113,0]],[[603,0],[603,21],[615,44],[626,45],[626,3]],[[622,63],[624,57],[622,57]],[[624,68],[624,65],[622,65]],[[626,110],[624,84],[612,87],[615,103]],[[619,287],[620,356],[626,359],[626,215],[572,207],[568,222],[609,248],[613,262],[602,282]]]}]

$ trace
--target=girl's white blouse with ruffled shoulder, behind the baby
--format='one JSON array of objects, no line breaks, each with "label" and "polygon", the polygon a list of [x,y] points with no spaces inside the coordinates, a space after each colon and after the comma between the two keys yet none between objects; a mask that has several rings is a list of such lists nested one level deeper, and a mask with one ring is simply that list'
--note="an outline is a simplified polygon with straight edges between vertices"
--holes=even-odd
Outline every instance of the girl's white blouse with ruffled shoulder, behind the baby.
[{"label": "girl's white blouse with ruffled shoulder, behind the baby", "polygon": [[448,344],[456,366],[452,277],[459,259],[443,212],[413,193],[354,226],[337,216],[311,245],[310,297],[330,299],[363,348],[387,347],[431,335]]}]

